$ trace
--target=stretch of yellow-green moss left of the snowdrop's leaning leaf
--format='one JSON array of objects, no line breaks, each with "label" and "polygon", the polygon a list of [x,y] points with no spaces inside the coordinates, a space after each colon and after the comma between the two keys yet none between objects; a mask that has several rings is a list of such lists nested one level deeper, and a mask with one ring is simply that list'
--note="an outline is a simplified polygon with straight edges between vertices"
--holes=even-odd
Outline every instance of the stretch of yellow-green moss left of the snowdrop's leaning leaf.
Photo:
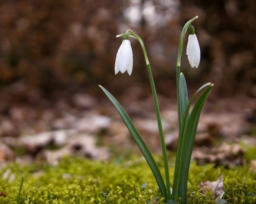
[{"label": "stretch of yellow-green moss left of the snowdrop's leaning leaf", "polygon": [[0,175],[0,192],[6,194],[0,203],[17,203],[22,176],[20,203],[152,203],[161,197],[144,161],[128,166],[81,158],[66,158],[57,166],[13,163]]}]

